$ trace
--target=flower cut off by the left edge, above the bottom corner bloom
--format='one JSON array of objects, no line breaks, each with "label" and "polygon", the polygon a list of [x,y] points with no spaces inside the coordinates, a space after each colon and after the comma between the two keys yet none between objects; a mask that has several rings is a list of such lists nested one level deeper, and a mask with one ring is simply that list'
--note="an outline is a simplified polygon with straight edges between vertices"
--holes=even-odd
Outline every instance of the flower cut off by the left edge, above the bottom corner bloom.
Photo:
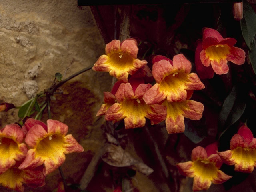
[{"label": "flower cut off by the left edge, above the bottom corner bloom", "polygon": [[28,148],[23,140],[24,133],[17,124],[6,125],[0,130],[0,174],[25,158]]}]

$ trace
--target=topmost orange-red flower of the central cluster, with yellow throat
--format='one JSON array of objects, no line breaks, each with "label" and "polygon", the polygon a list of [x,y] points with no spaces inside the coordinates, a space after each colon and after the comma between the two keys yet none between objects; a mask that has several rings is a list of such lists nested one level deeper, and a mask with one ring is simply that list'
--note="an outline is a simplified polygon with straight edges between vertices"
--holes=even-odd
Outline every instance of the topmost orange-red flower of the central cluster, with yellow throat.
[{"label": "topmost orange-red flower of the central cluster, with yellow throat", "polygon": [[147,64],[146,60],[137,59],[138,46],[135,39],[126,39],[123,42],[112,40],[106,44],[105,52],[106,55],[100,56],[92,69],[109,72],[123,82],[128,82],[129,74],[134,74]]}]

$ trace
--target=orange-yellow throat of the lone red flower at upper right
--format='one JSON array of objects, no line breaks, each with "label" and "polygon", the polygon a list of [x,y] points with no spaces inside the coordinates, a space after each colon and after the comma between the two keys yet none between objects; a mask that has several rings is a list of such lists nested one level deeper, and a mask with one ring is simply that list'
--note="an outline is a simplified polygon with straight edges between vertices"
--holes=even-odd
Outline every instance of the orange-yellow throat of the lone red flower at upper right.
[{"label": "orange-yellow throat of the lone red flower at upper right", "polygon": [[228,45],[212,45],[206,48],[205,53],[206,56],[209,57],[210,60],[220,61],[221,59],[226,59],[227,54],[230,53],[230,46]]}]

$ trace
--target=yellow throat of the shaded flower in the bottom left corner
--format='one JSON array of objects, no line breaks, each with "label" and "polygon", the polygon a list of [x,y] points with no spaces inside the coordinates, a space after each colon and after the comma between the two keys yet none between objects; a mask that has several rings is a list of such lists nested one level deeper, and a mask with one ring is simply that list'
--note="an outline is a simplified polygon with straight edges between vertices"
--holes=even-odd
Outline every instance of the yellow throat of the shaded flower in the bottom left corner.
[{"label": "yellow throat of the shaded flower in the bottom left corner", "polygon": [[16,184],[20,184],[23,181],[24,171],[18,168],[9,168],[3,174],[0,174],[0,184],[4,187],[14,189]]}]

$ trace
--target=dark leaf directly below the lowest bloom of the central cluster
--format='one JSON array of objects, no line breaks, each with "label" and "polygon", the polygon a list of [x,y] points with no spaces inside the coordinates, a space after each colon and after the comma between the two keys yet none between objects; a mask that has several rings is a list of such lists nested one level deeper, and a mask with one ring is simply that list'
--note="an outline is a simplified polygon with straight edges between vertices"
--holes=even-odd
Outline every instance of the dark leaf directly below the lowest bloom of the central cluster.
[{"label": "dark leaf directly below the lowest bloom of the central cluster", "polygon": [[207,126],[204,118],[199,121],[193,121],[185,118],[185,131],[186,135],[192,142],[199,143],[207,136]]}]

